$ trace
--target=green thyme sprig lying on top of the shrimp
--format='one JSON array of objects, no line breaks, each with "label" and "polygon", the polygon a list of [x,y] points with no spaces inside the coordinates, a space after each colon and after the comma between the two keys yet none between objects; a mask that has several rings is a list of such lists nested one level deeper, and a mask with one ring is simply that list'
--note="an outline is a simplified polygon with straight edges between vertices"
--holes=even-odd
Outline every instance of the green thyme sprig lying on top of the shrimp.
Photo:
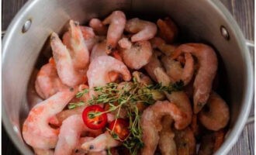
[{"label": "green thyme sprig lying on top of the shrimp", "polygon": [[[108,112],[116,112],[116,119],[119,118],[121,108],[127,112],[127,118],[130,121],[130,136],[123,141],[123,146],[130,150],[131,154],[137,154],[141,147],[144,146],[142,141],[142,129],[140,126],[141,112],[137,107],[137,103],[144,105],[152,105],[157,100],[164,99],[164,92],[171,93],[171,91],[182,90],[183,82],[178,81],[175,84],[163,86],[162,84],[140,84],[136,80],[133,82],[123,82],[121,84],[109,83],[103,87],[95,87],[93,91],[97,96],[92,96],[87,102],[71,103],[68,108],[77,108],[81,105],[97,105],[108,104],[109,109],[105,112],[91,113],[89,116],[94,118],[98,115]],[[81,98],[89,92],[89,89],[79,91],[76,95]],[[113,128],[114,129],[114,128]],[[119,137],[112,133],[113,138],[119,140]]]}]

